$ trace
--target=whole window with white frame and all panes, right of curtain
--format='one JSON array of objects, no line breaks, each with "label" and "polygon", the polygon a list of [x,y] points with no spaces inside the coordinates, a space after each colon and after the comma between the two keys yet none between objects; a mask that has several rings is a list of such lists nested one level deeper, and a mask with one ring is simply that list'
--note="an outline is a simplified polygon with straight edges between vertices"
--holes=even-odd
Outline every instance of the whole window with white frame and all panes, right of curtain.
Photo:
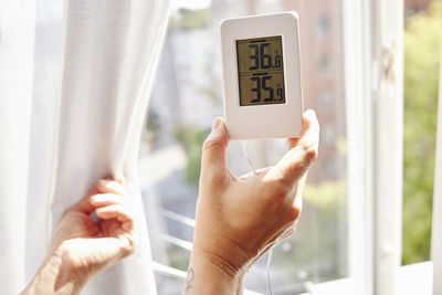
[{"label": "whole window with white frame and all panes, right of curtain", "polygon": [[[186,277],[201,145],[212,118],[222,116],[218,24],[224,18],[278,10],[301,15],[304,102],[305,108],[317,110],[322,144],[298,230],[274,250],[274,294],[431,293],[429,203],[440,51],[423,56],[428,29],[425,34],[414,32],[424,42],[412,39],[412,18],[422,25],[430,12],[408,17],[403,31],[404,11],[435,7],[440,13],[441,2],[433,0],[439,4],[428,7],[429,2],[172,1],[140,154],[159,294],[178,294]],[[440,17],[434,23],[440,34]],[[417,140],[418,135],[423,139]],[[285,150],[282,140],[246,145],[257,167],[274,164]],[[235,175],[250,171],[240,143],[231,143],[228,156]],[[417,204],[420,213],[410,214]],[[410,220],[419,222],[411,226]],[[265,259],[248,274],[245,288],[267,292]],[[401,266],[401,261],[427,262]]]}]

